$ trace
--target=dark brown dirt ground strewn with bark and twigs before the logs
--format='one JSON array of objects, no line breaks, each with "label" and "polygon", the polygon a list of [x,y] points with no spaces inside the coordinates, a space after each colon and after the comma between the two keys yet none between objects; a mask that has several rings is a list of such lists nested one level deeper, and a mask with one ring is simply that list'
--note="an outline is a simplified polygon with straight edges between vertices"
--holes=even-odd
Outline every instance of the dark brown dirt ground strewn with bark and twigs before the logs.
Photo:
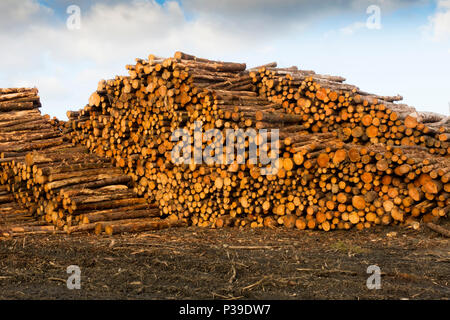
[{"label": "dark brown dirt ground strewn with bark and twigs before the logs", "polygon": [[449,299],[449,241],[426,227],[26,236],[0,241],[0,299]]}]

